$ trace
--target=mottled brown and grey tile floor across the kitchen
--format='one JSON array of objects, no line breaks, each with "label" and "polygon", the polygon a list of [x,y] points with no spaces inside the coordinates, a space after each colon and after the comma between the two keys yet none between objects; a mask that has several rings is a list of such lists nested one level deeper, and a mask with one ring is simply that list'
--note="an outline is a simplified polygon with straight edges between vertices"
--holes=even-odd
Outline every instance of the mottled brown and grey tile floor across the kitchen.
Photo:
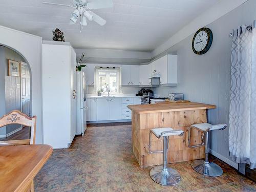
[{"label": "mottled brown and grey tile floor across the kitchen", "polygon": [[54,150],[35,177],[35,191],[256,191],[256,184],[215,157],[224,174],[205,177],[190,162],[171,166],[181,174],[175,186],[161,186],[151,180],[151,167],[140,168],[131,148],[131,125],[88,127],[76,136],[69,149]]}]

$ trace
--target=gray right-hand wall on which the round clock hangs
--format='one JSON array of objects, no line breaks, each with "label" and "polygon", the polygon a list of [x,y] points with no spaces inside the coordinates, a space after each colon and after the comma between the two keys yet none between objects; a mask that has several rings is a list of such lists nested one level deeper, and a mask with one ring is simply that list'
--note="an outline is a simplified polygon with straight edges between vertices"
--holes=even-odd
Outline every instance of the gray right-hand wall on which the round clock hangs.
[{"label": "gray right-hand wall on which the round clock hangs", "polygon": [[[184,93],[185,99],[217,105],[208,111],[208,122],[227,123],[229,111],[230,85],[230,38],[233,28],[242,24],[252,24],[256,19],[256,1],[249,0],[206,26],[212,30],[214,40],[210,50],[204,55],[196,55],[191,49],[194,34],[170,48],[167,53],[178,54],[177,88],[156,88],[156,94]],[[228,129],[210,134],[210,148],[224,158],[229,158]]]}]

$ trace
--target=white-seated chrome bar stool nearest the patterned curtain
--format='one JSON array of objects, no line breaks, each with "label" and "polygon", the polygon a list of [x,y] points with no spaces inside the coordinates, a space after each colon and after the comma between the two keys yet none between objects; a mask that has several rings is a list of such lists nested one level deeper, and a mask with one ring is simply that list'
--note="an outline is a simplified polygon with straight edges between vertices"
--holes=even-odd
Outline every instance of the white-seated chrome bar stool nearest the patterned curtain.
[{"label": "white-seated chrome bar stool nearest the patterned curtain", "polygon": [[[208,153],[209,153],[209,131],[213,130],[224,130],[227,127],[226,124],[218,124],[218,125],[212,125],[209,123],[199,123],[199,124],[193,124],[189,126],[188,129],[188,147],[198,147],[204,145],[204,153],[205,158],[204,160],[195,160],[191,163],[191,167],[196,170],[196,172],[210,177],[218,177],[223,174],[222,168],[217,165],[214,162],[208,161]],[[199,145],[190,145],[190,132],[191,129],[197,129],[201,132],[203,132],[202,136],[202,143]]]}]

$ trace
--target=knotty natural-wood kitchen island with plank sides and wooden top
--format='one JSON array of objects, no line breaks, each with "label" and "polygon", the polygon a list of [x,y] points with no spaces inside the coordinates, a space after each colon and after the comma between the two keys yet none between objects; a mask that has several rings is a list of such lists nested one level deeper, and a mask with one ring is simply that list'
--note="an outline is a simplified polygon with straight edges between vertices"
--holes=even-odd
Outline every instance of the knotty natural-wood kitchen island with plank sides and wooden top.
[{"label": "knotty natural-wood kitchen island with plank sides and wooden top", "polygon": [[[204,158],[204,146],[189,148],[187,146],[188,127],[195,123],[207,122],[206,110],[215,109],[215,105],[186,102],[157,104],[128,105],[132,110],[132,146],[133,153],[140,167],[159,165],[163,163],[162,153],[148,152],[150,130],[160,127],[172,127],[174,130],[183,130],[184,135],[170,136],[168,144],[168,163],[189,161]],[[191,144],[201,143],[202,133],[191,131]],[[152,135],[151,151],[162,150],[162,138]]]}]

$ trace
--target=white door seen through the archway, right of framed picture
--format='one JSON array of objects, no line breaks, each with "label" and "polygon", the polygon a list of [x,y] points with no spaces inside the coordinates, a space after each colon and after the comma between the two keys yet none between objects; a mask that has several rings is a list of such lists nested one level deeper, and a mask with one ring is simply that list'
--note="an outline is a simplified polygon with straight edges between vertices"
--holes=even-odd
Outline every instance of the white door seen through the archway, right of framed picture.
[{"label": "white door seen through the archway, right of framed picture", "polygon": [[31,116],[30,106],[30,71],[26,62],[20,61],[20,98],[21,111]]}]

